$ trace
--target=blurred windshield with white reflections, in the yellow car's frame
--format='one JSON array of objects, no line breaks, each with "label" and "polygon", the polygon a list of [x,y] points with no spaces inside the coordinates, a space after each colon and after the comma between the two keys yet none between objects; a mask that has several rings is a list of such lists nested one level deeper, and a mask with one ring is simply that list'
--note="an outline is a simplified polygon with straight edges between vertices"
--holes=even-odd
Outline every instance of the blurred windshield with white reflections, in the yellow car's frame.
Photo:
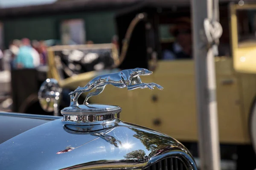
[{"label": "blurred windshield with white reflections, in the yellow car's frame", "polygon": [[111,44],[95,48],[95,45],[76,45],[74,48],[59,46],[52,48],[55,64],[59,69],[62,79],[73,74],[81,74],[88,71],[100,71],[111,68],[115,64],[116,54]]}]

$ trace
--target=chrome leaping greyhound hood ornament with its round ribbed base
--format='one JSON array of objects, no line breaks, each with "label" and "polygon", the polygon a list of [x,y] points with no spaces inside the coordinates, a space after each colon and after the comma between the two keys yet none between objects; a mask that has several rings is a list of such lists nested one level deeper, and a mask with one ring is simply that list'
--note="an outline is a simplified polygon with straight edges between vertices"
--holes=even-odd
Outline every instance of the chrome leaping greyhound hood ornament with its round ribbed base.
[{"label": "chrome leaping greyhound hood ornament with its round ribbed base", "polygon": [[[153,72],[148,71],[145,68],[134,68],[97,76],[84,87],[78,87],[75,91],[70,92],[70,106],[62,109],[61,114],[64,115],[64,120],[75,122],[98,122],[119,119],[119,113],[122,111],[122,108],[119,106],[89,104],[87,100],[91,96],[101,94],[106,85],[127,88],[128,90],[137,88],[149,88],[153,90],[153,87],[163,90],[163,87],[156,83],[143,83],[141,81],[140,76],[151,75],[152,73]],[[94,88],[96,90],[87,94],[84,103],[79,105],[79,96]]]}]

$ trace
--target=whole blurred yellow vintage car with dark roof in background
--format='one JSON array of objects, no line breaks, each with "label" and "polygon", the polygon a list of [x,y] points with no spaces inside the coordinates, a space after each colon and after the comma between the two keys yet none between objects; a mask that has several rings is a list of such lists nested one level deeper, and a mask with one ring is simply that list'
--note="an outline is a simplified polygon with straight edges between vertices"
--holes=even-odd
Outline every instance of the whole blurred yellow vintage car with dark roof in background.
[{"label": "whole blurred yellow vintage car with dark roof in background", "polygon": [[[89,103],[119,105],[125,112],[121,115],[123,121],[158,130],[182,142],[197,142],[195,62],[192,58],[162,58],[163,49],[175,41],[168,33],[169,27],[175,25],[177,17],[190,17],[189,4],[175,4],[148,4],[118,13],[119,54],[114,44],[49,47],[48,77],[72,91],[100,74],[147,68],[154,74],[142,77],[143,82],[157,82],[163,91],[128,92],[109,86],[102,94],[92,96]],[[221,144],[250,146],[256,142],[256,4],[220,1],[219,9],[223,28],[219,55],[215,57],[219,139]],[[60,51],[106,46],[112,50],[114,61],[110,69],[69,76],[59,69]],[[61,76],[63,73],[66,76]]]}]

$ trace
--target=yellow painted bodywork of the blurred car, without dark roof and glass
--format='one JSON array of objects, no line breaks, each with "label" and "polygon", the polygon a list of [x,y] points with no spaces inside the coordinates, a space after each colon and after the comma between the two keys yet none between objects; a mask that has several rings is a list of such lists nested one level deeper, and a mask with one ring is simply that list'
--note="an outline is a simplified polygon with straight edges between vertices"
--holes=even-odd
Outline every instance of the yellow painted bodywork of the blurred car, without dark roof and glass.
[{"label": "yellow painted bodywork of the blurred car, without dark roof and glass", "polygon": [[[215,57],[219,139],[229,144],[250,143],[248,120],[256,96],[256,43],[238,45],[236,10],[241,8],[256,6],[230,6],[233,54],[232,57]],[[48,77],[57,79],[63,88],[74,90],[106,73],[91,71],[60,79],[53,51],[55,47],[48,48]],[[151,76],[141,77],[142,81],[155,82],[163,86],[163,91],[147,88],[128,91],[109,85],[98,96],[92,96],[90,102],[119,105],[123,109],[121,119],[125,122],[159,130],[179,141],[198,141],[195,62],[159,60],[153,72]]]}]

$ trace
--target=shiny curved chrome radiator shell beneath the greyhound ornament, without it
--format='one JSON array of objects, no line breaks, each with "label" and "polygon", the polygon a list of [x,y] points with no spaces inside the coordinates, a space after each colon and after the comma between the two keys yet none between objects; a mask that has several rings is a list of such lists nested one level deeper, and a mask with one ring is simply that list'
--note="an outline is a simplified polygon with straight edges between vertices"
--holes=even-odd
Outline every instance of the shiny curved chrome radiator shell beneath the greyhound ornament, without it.
[{"label": "shiny curved chrome radiator shell beneath the greyhound ornament, without it", "polygon": [[57,119],[0,144],[0,169],[143,168],[170,153],[195,164],[177,140],[145,127],[121,121],[79,125]]}]

